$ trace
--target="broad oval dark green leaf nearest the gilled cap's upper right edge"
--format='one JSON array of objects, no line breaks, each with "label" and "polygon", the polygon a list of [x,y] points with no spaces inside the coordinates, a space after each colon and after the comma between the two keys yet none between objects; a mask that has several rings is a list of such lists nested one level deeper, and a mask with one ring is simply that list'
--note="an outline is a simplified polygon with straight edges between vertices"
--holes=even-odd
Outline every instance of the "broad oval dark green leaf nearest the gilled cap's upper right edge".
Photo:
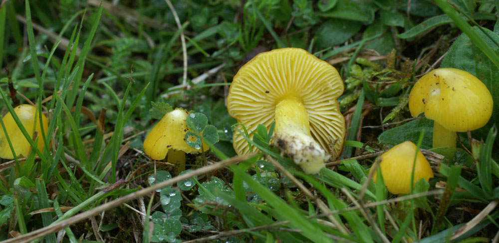
[{"label": "broad oval dark green leaf nearest the gilled cap's upper right edge", "polygon": [[338,45],[352,37],[362,27],[362,23],[347,19],[332,19],[322,23],[315,33],[315,45],[324,49]]}]

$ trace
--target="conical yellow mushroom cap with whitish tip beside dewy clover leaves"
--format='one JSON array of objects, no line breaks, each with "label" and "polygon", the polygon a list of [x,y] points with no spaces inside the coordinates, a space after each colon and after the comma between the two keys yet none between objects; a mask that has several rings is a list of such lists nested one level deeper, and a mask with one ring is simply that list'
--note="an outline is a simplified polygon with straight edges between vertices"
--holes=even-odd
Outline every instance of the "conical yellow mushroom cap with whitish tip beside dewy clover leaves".
[{"label": "conical yellow mushroom cap with whitish tip beside dewy clover leaves", "polygon": [[[144,140],[144,152],[153,160],[163,160],[170,149],[182,150],[186,153],[199,153],[184,140],[189,129],[186,124],[189,113],[177,108],[166,115],[151,129]],[[203,143],[203,149],[208,150],[208,145]]]}]

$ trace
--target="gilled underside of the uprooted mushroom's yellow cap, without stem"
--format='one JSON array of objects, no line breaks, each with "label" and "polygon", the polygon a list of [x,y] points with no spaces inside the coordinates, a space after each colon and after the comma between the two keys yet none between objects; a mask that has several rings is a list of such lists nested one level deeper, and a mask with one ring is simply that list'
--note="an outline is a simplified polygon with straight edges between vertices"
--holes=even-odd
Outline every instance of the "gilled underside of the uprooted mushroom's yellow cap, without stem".
[{"label": "gilled underside of the uprooted mushroom's yellow cap, without stem", "polygon": [[[299,99],[307,111],[310,134],[326,153],[336,157],[345,134],[345,119],[336,100],[343,89],[338,71],[329,63],[303,49],[281,48],[262,52],[239,69],[227,108],[248,131],[254,131],[258,124],[270,127],[279,101]],[[239,155],[250,152],[238,131],[233,140]]]}]

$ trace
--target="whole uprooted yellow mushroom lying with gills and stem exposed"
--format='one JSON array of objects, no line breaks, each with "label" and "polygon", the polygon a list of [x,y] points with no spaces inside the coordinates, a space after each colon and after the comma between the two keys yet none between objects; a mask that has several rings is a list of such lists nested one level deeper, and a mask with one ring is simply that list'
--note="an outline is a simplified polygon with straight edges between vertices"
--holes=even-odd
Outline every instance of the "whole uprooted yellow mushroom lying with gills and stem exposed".
[{"label": "whole uprooted yellow mushroom lying with gills and stem exposed", "polygon": [[[227,108],[248,131],[275,121],[273,145],[315,174],[343,145],[345,119],[336,101],[343,89],[329,63],[303,49],[282,48],[256,55],[238,71]],[[233,140],[239,155],[250,152],[238,131]]]}]

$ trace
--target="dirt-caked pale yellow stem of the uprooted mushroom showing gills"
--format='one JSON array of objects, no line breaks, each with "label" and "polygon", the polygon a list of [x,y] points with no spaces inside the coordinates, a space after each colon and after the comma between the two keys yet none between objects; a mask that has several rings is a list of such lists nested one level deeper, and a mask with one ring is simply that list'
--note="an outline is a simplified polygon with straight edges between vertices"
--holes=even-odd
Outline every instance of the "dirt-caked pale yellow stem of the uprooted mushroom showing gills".
[{"label": "dirt-caked pale yellow stem of the uprooted mushroom showing gills", "polygon": [[273,144],[307,174],[318,173],[331,157],[310,135],[307,112],[296,98],[283,99],[275,106]]}]

